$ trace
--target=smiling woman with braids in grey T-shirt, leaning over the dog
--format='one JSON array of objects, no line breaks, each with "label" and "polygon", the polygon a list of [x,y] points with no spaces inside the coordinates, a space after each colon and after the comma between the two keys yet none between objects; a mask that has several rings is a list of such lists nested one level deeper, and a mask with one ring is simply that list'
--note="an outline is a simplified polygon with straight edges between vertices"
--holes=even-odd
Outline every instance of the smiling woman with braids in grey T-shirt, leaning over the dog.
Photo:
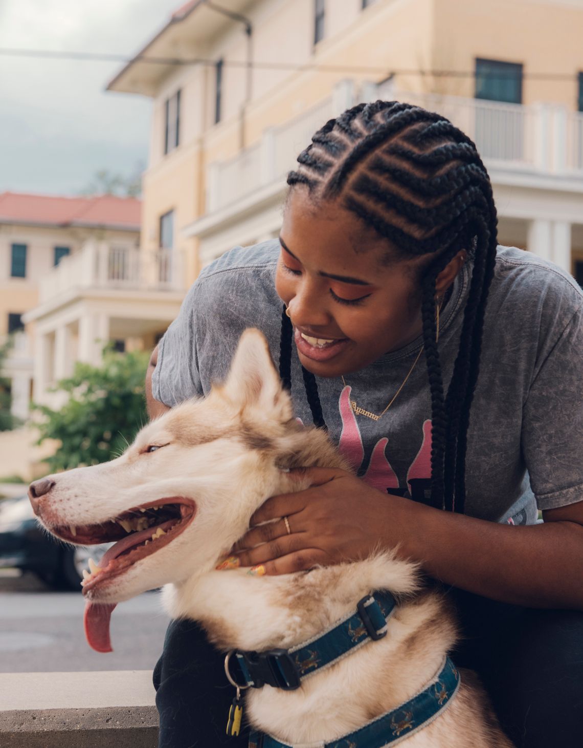
[{"label": "smiling woman with braids in grey T-shirt, leaning over the dog", "polygon": [[[241,331],[262,329],[297,415],[357,476],[310,469],[312,488],[268,500],[241,565],[398,548],[449,590],[454,658],[516,745],[579,746],[583,294],[497,247],[487,171],[438,114],[358,105],[297,160],[280,242],[223,255],[185,298],[152,356],[150,412],[206,393]],[[246,745],[223,737],[232,694],[196,625],[170,625],[155,684],[161,746]]]}]

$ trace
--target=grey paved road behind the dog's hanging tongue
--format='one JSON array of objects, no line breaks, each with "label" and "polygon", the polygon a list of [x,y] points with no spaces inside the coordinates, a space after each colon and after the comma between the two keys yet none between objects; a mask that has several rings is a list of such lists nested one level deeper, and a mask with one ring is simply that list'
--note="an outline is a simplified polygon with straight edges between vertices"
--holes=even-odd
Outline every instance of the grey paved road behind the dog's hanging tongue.
[{"label": "grey paved road behind the dog's hanging tongue", "polygon": [[0,571],[0,672],[152,669],[168,624],[157,592],[120,603],[111,616],[114,652],[83,633],[80,592],[54,592],[33,574]]}]

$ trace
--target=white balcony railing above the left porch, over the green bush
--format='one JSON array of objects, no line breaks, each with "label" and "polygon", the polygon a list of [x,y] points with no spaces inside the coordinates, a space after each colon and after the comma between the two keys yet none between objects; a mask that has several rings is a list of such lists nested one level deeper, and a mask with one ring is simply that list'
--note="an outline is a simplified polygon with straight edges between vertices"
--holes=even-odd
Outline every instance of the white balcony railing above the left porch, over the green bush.
[{"label": "white balcony railing above the left porch, over the green bush", "polygon": [[182,252],[146,252],[133,247],[87,242],[64,257],[40,281],[40,303],[73,289],[110,288],[173,291],[185,288]]}]

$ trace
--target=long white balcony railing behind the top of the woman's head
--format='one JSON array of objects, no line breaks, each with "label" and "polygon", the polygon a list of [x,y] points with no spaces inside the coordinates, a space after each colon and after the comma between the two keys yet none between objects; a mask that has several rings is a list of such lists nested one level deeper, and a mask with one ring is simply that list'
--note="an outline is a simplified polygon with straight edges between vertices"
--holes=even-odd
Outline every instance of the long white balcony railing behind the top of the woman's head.
[{"label": "long white balcony railing behind the top of the woman's head", "polygon": [[[583,178],[583,114],[559,105],[525,106],[430,93],[395,91],[392,81],[366,85],[365,98],[395,98],[438,111],[466,132],[493,171],[496,168]],[[350,102],[344,102],[350,105]],[[228,208],[260,188],[283,184],[300,150],[341,108],[334,96],[280,127],[226,162],[209,167],[207,215]],[[336,111],[337,110],[337,111]]]}]

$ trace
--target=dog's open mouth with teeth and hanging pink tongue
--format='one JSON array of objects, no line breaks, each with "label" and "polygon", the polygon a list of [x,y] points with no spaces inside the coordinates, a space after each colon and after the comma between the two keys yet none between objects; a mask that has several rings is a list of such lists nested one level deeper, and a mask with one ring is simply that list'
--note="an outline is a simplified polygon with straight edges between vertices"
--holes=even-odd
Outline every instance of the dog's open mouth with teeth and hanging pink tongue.
[{"label": "dog's open mouth with teeth and hanging pink tongue", "polygon": [[97,564],[90,562],[84,571],[84,628],[89,645],[97,652],[111,652],[109,620],[115,604],[100,604],[90,598],[96,588],[123,574],[135,562],[154,554],[179,536],[196,514],[193,500],[173,496],[136,506],[101,524],[52,527],[52,533],[79,545],[97,545],[117,541]]}]

